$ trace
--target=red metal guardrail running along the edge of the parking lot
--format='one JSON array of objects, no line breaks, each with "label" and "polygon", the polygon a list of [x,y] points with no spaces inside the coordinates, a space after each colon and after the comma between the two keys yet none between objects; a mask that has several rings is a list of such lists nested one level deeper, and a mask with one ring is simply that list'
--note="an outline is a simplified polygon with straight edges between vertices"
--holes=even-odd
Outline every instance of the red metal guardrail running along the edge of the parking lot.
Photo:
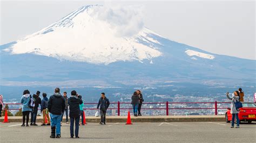
[{"label": "red metal guardrail running along the edge of the parking lot", "polygon": [[[165,104],[165,108],[142,108],[144,110],[166,110],[166,116],[169,116],[169,110],[197,110],[197,109],[205,109],[205,110],[210,110],[214,109],[215,110],[215,115],[218,115],[218,109],[227,109],[226,107],[218,107],[218,104],[230,104],[231,102],[144,102],[143,104]],[[84,103],[86,104],[95,104],[97,105],[98,103]],[[131,104],[130,102],[112,102],[110,104],[117,104],[117,108],[109,108],[109,109],[114,109],[117,110],[117,116],[120,116],[120,110],[131,110],[132,108],[120,108],[121,104]],[[214,104],[213,108],[169,108],[170,104]],[[21,105],[21,103],[4,103],[5,105]],[[4,109],[6,110],[6,109]],[[8,109],[8,110],[19,110],[19,109]],[[97,110],[96,108],[85,108],[84,110]]]}]

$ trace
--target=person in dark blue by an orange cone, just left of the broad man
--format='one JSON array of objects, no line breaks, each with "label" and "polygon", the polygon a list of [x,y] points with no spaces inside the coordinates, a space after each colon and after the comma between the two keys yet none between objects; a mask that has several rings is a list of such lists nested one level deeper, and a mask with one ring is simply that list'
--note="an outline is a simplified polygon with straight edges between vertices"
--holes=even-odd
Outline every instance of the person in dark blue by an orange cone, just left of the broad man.
[{"label": "person in dark blue by an orange cone, just left of the broad man", "polygon": [[[43,112],[43,124],[41,126],[45,126],[45,125],[50,126],[51,125],[50,124],[51,120],[50,120],[49,112],[48,112],[48,109],[47,109],[48,98],[46,96],[47,96],[47,94],[43,93],[43,99],[42,99],[42,103],[41,103],[41,113]],[[46,123],[45,116],[48,119],[48,124],[45,124]]]}]

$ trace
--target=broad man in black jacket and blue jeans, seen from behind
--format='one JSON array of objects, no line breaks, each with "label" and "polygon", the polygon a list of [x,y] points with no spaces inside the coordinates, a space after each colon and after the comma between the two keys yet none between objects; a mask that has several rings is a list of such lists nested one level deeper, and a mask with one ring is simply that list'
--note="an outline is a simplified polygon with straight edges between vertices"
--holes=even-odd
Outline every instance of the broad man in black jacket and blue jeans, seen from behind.
[{"label": "broad man in black jacket and blue jeans, seen from behind", "polygon": [[62,120],[62,113],[65,110],[65,99],[60,94],[59,88],[55,89],[53,94],[48,101],[48,111],[51,113],[51,136],[50,138],[60,138],[60,121]]}]

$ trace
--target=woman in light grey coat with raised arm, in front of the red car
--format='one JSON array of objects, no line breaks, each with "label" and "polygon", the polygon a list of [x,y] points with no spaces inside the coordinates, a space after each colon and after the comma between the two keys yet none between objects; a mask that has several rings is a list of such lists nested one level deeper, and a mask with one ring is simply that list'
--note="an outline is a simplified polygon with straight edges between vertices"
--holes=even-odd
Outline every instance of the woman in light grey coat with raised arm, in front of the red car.
[{"label": "woman in light grey coat with raised arm, in front of the red car", "polygon": [[232,97],[230,97],[228,95],[229,93],[227,92],[227,98],[232,100],[232,103],[231,103],[231,110],[230,110],[230,113],[232,114],[232,124],[231,124],[231,128],[234,127],[234,118],[237,119],[237,126],[235,128],[239,128],[239,123],[240,123],[240,120],[238,118],[238,113],[239,113],[239,109],[237,109],[235,107],[235,104],[237,102],[239,102],[240,100],[240,95],[239,95],[239,91],[234,91],[234,93],[232,94]]}]

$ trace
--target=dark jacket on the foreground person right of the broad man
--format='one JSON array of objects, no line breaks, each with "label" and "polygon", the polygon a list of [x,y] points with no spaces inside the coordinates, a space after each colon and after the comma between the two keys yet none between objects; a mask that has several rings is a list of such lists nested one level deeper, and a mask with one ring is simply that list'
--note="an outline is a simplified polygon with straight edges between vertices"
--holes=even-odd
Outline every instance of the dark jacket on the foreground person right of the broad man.
[{"label": "dark jacket on the foreground person right of the broad man", "polygon": [[70,118],[78,118],[80,116],[80,108],[79,105],[83,103],[82,99],[77,96],[71,95],[68,99],[69,103],[69,117]]}]

